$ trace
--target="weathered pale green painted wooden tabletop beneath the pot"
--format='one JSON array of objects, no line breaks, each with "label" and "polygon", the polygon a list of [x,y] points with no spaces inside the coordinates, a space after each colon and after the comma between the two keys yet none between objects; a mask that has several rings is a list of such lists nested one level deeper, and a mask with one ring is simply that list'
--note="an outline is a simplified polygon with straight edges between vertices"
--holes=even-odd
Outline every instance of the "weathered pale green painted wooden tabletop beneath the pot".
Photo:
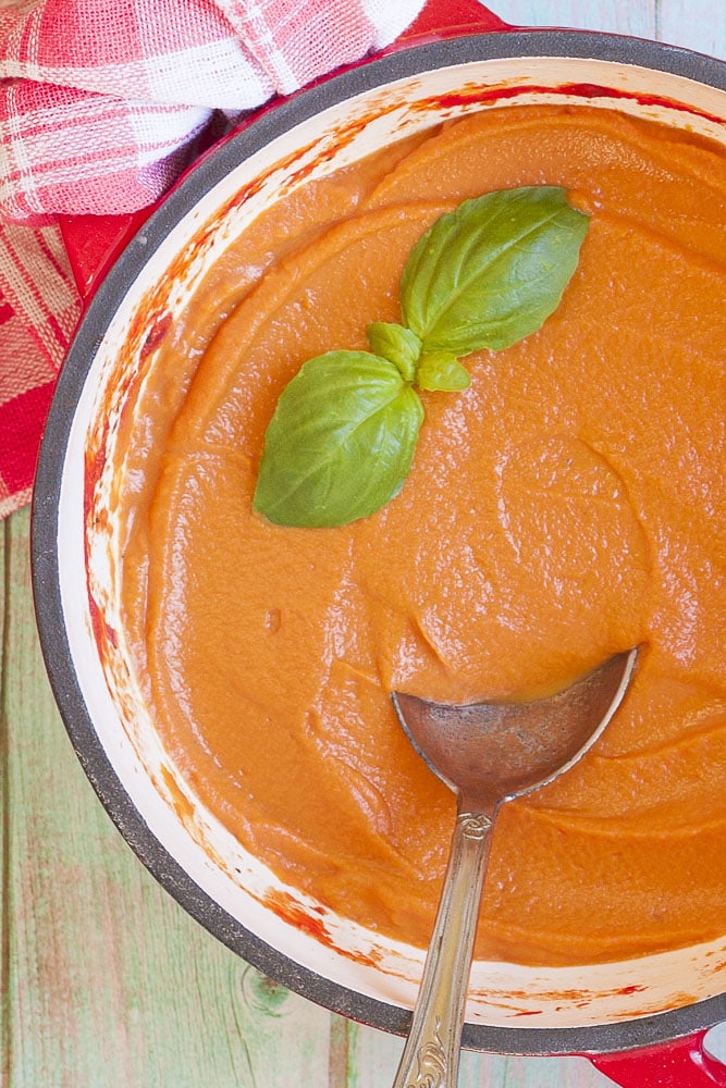
[{"label": "weathered pale green painted wooden tabletop beneath the pot", "polygon": [[[495,0],[519,25],[726,57],[723,0]],[[3,360],[0,360],[0,367]],[[402,1042],[269,981],[163,891],[111,825],[56,709],[28,511],[0,524],[0,1005],[4,1088],[385,1088]],[[462,1088],[604,1088],[578,1058],[467,1053]]]}]

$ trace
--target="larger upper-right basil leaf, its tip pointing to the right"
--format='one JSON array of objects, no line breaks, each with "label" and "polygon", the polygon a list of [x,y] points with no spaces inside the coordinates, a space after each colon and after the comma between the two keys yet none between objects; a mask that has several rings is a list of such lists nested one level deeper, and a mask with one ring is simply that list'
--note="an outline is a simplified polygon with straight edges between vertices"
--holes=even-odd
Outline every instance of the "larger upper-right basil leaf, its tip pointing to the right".
[{"label": "larger upper-right basil leaf, its tip pointing to the right", "polygon": [[404,324],[424,351],[509,347],[556,309],[588,223],[555,186],[466,200],[413,249],[401,283]]}]

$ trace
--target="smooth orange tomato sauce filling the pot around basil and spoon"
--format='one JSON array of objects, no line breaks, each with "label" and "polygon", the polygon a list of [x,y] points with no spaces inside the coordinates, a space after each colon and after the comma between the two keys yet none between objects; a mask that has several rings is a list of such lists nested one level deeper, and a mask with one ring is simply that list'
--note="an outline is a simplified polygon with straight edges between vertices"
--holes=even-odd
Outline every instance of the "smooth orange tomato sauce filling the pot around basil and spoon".
[{"label": "smooth orange tomato sauce filling the pot around basil and spoon", "polygon": [[[423,393],[401,494],[336,529],[255,516],[308,358],[396,321],[408,252],[481,193],[591,217],[544,326]],[[125,623],[181,774],[284,880],[427,943],[455,801],[395,689],[525,697],[642,644],[595,749],[495,829],[478,951],[588,963],[726,932],[726,169],[606,110],[447,123],[288,195],[155,357],[122,482]]]}]

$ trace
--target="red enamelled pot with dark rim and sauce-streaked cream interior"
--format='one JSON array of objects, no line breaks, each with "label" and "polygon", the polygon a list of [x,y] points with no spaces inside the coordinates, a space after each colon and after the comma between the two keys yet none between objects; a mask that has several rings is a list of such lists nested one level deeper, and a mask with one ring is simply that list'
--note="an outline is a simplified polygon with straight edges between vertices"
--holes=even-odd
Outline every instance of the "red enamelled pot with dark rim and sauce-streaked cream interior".
[{"label": "red enamelled pot with dark rim and sauce-streaked cream interior", "polygon": [[[150,212],[62,224],[87,306],[40,454],[33,570],[46,664],[73,744],[139,858],[207,929],[291,989],[397,1034],[423,953],[282,886],[201,808],[153,731],[119,619],[115,442],[155,336],[280,191],[386,139],[531,101],[616,108],[726,145],[723,62],[633,38],[513,28],[477,0],[431,0],[394,48],[255,114]],[[587,967],[475,963],[463,1042],[587,1055],[638,1088],[726,1086],[726,1067],[703,1043],[726,1019],[724,966],[726,938]]]}]

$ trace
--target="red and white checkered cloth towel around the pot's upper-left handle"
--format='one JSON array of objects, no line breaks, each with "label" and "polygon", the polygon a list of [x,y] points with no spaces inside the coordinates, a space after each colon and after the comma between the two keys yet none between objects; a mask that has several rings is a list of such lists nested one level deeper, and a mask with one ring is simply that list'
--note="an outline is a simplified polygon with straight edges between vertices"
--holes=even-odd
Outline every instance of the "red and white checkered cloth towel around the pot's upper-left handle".
[{"label": "red and white checkered cloth towel around the pot's upper-left handle", "polygon": [[224,115],[401,34],[423,0],[0,0],[0,517],[28,502],[81,311],[56,217],[152,203]]}]

